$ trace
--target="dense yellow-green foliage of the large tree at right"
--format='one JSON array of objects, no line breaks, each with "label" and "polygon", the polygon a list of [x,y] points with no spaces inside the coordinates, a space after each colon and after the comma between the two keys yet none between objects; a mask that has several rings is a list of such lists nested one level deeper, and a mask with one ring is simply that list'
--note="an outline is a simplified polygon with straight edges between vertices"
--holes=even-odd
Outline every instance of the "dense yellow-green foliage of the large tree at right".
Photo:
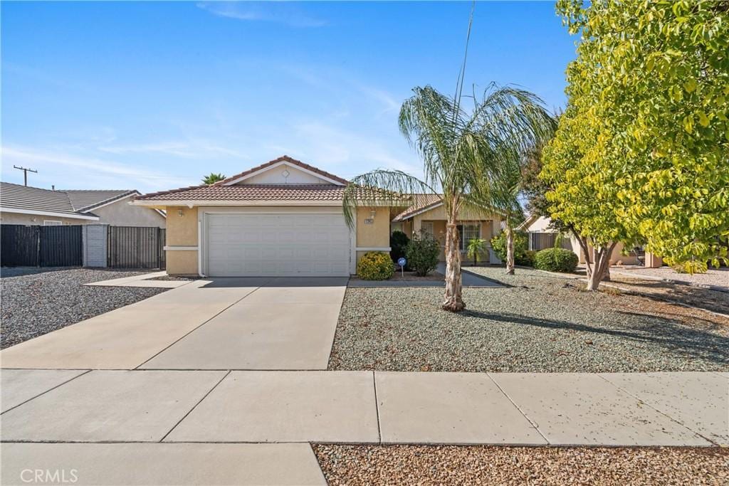
[{"label": "dense yellow-green foliage of the large tree at right", "polygon": [[689,271],[727,262],[729,2],[560,0],[577,59],[545,148],[553,216],[647,242]]}]

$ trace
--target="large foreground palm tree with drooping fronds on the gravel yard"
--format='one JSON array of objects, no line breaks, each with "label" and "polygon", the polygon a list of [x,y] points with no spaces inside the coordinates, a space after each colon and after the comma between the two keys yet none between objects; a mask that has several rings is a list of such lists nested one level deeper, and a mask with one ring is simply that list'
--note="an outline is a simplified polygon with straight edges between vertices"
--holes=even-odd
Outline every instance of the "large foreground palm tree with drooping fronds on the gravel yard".
[{"label": "large foreground palm tree with drooping fronds on the gravel yard", "polygon": [[364,173],[346,187],[343,210],[353,226],[357,205],[383,199],[402,204],[403,197],[418,192],[438,195],[446,214],[443,308],[459,312],[465,308],[456,228],[459,211],[467,205],[493,206],[491,196],[496,194],[493,188],[502,166],[541,139],[549,114],[536,95],[514,87],[489,85],[482,99],[474,95],[470,111],[462,108],[460,94],[451,98],[430,86],[416,87],[413,93],[402,104],[399,127],[423,159],[424,180],[401,171]]}]

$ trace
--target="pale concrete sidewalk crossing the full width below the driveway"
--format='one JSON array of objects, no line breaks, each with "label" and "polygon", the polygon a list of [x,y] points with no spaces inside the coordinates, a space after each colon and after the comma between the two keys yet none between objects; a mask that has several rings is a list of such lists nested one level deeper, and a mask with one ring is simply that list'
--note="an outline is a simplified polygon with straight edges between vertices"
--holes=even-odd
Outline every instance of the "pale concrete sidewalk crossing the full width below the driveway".
[{"label": "pale concrete sidewalk crossing the full width below the driveway", "polygon": [[729,375],[714,372],[5,369],[1,377],[4,442],[729,444]]}]

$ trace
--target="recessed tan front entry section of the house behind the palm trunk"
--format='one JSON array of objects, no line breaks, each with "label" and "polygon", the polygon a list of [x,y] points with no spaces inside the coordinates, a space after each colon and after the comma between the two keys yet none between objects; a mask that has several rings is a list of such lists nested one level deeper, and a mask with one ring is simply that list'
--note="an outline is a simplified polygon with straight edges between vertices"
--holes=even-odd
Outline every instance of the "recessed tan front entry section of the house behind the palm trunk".
[{"label": "recessed tan front entry section of the house behind the palm trunk", "polygon": [[[440,242],[440,260],[445,261],[445,210],[440,196],[434,194],[413,195],[414,203],[410,208],[392,219],[391,230],[399,230],[412,238],[419,232],[426,232]],[[489,211],[480,211],[472,208],[461,209],[458,215],[458,230],[461,235],[461,254],[464,264],[470,259],[466,258],[468,242],[481,238],[489,242],[491,237],[502,231],[502,216]],[[498,257],[487,243],[488,259],[484,262],[500,263]],[[486,256],[486,255],[484,255]]]}]

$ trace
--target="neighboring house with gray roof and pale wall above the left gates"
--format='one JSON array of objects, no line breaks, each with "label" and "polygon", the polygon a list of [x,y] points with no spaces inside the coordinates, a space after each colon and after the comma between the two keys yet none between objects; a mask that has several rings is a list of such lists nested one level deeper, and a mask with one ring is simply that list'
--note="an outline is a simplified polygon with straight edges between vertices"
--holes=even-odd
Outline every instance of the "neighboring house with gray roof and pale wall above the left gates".
[{"label": "neighboring house with gray roof and pale wall above the left gates", "polygon": [[165,213],[130,205],[136,190],[52,190],[0,182],[0,222],[165,227]]}]

